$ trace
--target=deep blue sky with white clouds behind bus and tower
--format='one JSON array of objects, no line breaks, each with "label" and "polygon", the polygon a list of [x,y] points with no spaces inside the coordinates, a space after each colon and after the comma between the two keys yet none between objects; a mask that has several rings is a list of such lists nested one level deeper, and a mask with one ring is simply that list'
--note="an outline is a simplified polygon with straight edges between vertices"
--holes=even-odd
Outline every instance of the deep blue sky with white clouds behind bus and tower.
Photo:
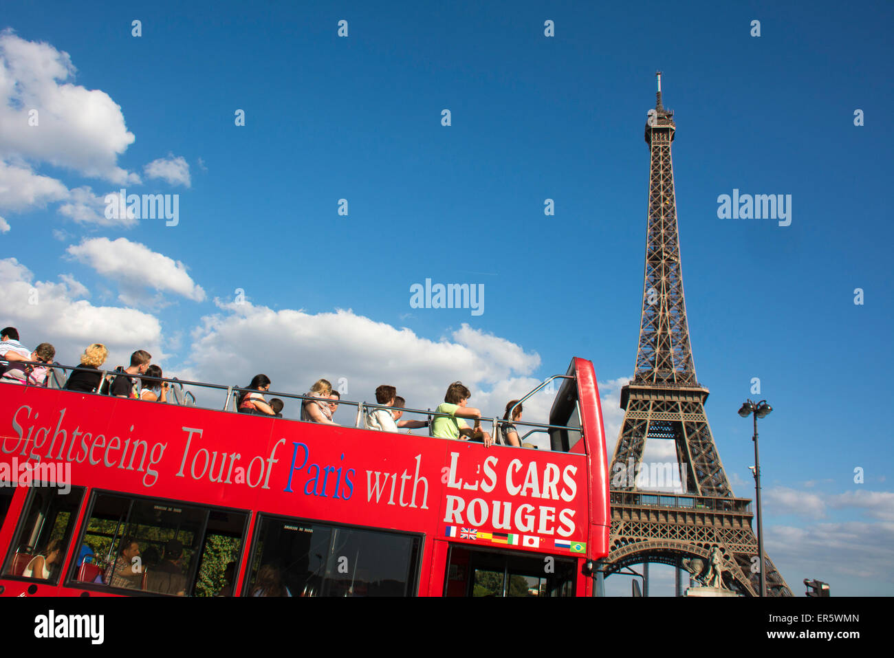
[{"label": "deep blue sky with white clouds behind bus and tower", "polygon": [[[797,594],[803,578],[894,594],[892,13],[7,4],[0,258],[17,262],[0,270],[4,324],[66,363],[94,341],[110,360],[147,347],[165,373],[247,384],[266,372],[296,392],[343,377],[353,400],[390,381],[426,408],[462,379],[492,415],[580,356],[604,383],[613,448],[660,69],[696,372],[734,491],[754,493],[736,410],[759,377],[775,409],[760,426],[768,553]],[[73,68],[54,78],[63,53]],[[29,101],[44,101],[38,126],[21,122]],[[179,194],[179,224],[104,221],[102,198],[122,187]],[[719,219],[733,189],[790,194],[791,225]],[[426,278],[483,284],[484,313],[410,308]],[[232,303],[237,289],[247,304]]]}]

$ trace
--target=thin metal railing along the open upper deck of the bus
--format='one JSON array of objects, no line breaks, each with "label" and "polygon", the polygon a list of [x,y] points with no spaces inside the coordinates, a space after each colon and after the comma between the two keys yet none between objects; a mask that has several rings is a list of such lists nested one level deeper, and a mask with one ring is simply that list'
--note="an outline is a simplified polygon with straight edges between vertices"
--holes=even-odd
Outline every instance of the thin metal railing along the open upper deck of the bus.
[{"label": "thin metal railing along the open upper deck of the bus", "polygon": [[[40,361],[6,361],[4,359],[0,359],[0,364],[14,365],[16,367],[19,367],[19,366],[46,367],[48,369],[48,372],[46,375],[46,382],[45,382],[45,384],[43,384],[40,387],[41,388],[44,388],[44,387],[55,388],[55,389],[63,389],[64,381],[65,381],[65,379],[67,379],[67,377],[60,378],[58,376],[59,373],[57,371],[65,372],[65,371],[69,371],[69,370],[75,370],[78,368],[77,366],[63,366],[60,363],[43,363]],[[90,392],[88,394],[102,395],[104,397],[109,397],[109,396],[111,396],[111,388],[112,388],[111,385],[108,386],[107,392],[105,392],[105,393],[99,392],[103,387],[103,383],[105,382],[107,377],[114,379],[115,376],[122,375],[122,372],[119,370],[98,370],[98,372],[101,375],[100,380],[99,380],[100,384],[97,387],[98,390],[96,390],[94,392]],[[223,402],[223,409],[220,409],[220,410],[223,410],[226,412],[231,412],[231,413],[239,411],[239,409],[236,409],[236,400],[238,399],[240,392],[258,392],[256,389],[246,388],[246,387],[242,387],[242,386],[235,386],[235,385],[227,386],[224,384],[209,384],[207,382],[193,382],[190,380],[178,379],[177,377],[153,377],[153,376],[139,375],[139,374],[138,375],[128,375],[127,373],[123,373],[123,374],[128,377],[136,378],[136,379],[143,380],[143,381],[158,382],[158,383],[166,382],[168,384],[172,384],[171,392],[173,393],[173,396],[174,396],[173,403],[180,405],[180,406],[185,406],[185,407],[195,407],[197,409],[207,409],[207,410],[212,410],[212,411],[217,410],[215,408],[210,408],[210,407],[199,407],[198,404],[196,403],[197,399],[196,399],[195,394],[193,394],[193,392],[191,392],[191,391],[185,391],[183,388],[184,386],[197,386],[199,388],[206,388],[206,389],[211,389],[214,391],[225,392],[226,397]],[[528,392],[515,405],[512,406],[512,408],[510,409],[510,413],[508,414],[509,418],[511,418],[512,411],[514,411],[515,408],[518,407],[522,401],[526,401],[528,398],[530,398],[536,392],[541,391],[544,388],[544,386],[546,386],[547,384],[552,382],[552,380],[558,379],[558,378],[574,379],[574,377],[571,375],[552,375],[551,377],[547,377],[546,379],[544,379],[544,381],[541,384],[538,384],[531,392]],[[4,381],[4,383],[9,383],[9,380],[0,380],[0,381]],[[110,382],[110,384],[111,384],[111,382]],[[13,385],[34,386],[35,384],[28,384],[26,382],[24,384],[14,384],[13,383]],[[81,394],[85,393],[82,391],[79,391],[79,392]],[[313,395],[299,395],[299,394],[291,393],[291,392],[264,391],[263,393],[264,393],[264,395],[267,396],[268,401],[270,398],[274,398],[274,397],[287,398],[290,400],[299,400],[299,401],[301,401],[302,404],[305,401],[320,401],[321,400],[320,398],[315,397]],[[229,409],[231,406],[231,402],[232,402],[232,409]],[[368,409],[388,409],[388,410],[395,409],[393,407],[389,407],[388,405],[375,404],[373,402],[366,402],[366,401],[355,402],[355,401],[339,399],[337,402],[339,405],[345,404],[345,405],[348,405],[349,407],[357,408],[357,416],[356,416],[356,419],[354,422],[354,426],[358,427],[358,428],[366,427],[365,417],[367,415]],[[169,401],[168,403],[170,404],[172,402]],[[429,435],[432,435],[431,434],[431,432],[432,432],[431,419],[432,418],[435,418],[435,417],[453,418],[453,416],[451,414],[440,413],[440,412],[434,411],[432,409],[410,409],[409,407],[401,407],[400,409],[401,409],[401,411],[408,413],[408,414],[414,414],[414,415],[418,415],[418,416],[426,416],[429,419]],[[260,415],[265,416],[266,414],[260,414]],[[298,420],[297,418],[291,418],[291,419]],[[473,419],[468,418],[468,420],[473,420]],[[506,443],[502,440],[502,433],[499,431],[500,426],[502,426],[502,425],[510,425],[511,424],[511,425],[516,425],[516,426],[527,426],[527,427],[533,428],[533,429],[529,430],[524,436],[519,437],[519,443],[524,441],[524,439],[527,438],[527,436],[530,434],[548,433],[552,429],[558,429],[558,430],[564,429],[564,430],[571,430],[574,432],[582,431],[580,426],[550,425],[548,423],[530,423],[530,422],[521,421],[521,420],[517,420],[517,421],[513,422],[510,419],[503,419],[503,418],[496,418],[496,417],[494,417],[494,418],[480,418],[480,420],[482,423],[490,422],[492,424],[491,436],[493,436],[494,443],[501,444],[501,445],[506,445]],[[312,422],[312,421],[300,421],[300,422]]]}]

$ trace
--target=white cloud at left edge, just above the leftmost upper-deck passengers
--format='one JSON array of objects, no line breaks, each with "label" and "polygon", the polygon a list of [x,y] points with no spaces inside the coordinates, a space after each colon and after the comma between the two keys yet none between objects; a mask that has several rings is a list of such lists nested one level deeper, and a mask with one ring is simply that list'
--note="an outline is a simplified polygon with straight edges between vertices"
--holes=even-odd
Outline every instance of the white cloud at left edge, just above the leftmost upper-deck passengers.
[{"label": "white cloud at left edge, just above the leftmost upper-deck passengers", "polygon": [[64,283],[35,281],[15,258],[0,260],[4,325],[16,327],[26,346],[51,342],[56,360],[65,365],[77,365],[80,353],[92,342],[102,342],[109,349],[106,365],[111,367],[125,363],[139,349],[149,350],[154,360],[164,359],[161,325],[155,316],[75,300],[83,294],[83,286],[73,278],[62,278]]}]

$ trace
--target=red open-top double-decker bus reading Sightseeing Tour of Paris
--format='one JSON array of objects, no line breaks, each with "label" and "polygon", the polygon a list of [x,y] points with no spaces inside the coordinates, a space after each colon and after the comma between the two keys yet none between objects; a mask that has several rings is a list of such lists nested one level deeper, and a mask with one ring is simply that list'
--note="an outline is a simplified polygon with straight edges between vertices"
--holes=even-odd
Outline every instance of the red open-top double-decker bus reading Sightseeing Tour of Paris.
[{"label": "red open-top double-decker bus reading Sightseeing Tour of Paris", "polygon": [[549,450],[0,384],[0,595],[593,595],[599,392],[554,379]]}]

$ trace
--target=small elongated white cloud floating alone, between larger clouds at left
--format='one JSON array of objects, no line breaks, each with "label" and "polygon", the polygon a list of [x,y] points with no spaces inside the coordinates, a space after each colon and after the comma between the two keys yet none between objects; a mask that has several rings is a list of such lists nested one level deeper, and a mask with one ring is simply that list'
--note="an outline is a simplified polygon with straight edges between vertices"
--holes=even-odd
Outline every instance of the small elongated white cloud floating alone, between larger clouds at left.
[{"label": "small elongated white cloud floating alone, between larger clouds at left", "polygon": [[186,266],[139,242],[126,238],[93,238],[82,240],[67,251],[81,263],[119,283],[119,299],[125,303],[147,303],[147,288],[174,292],[193,301],[205,299],[205,291],[192,281]]}]

